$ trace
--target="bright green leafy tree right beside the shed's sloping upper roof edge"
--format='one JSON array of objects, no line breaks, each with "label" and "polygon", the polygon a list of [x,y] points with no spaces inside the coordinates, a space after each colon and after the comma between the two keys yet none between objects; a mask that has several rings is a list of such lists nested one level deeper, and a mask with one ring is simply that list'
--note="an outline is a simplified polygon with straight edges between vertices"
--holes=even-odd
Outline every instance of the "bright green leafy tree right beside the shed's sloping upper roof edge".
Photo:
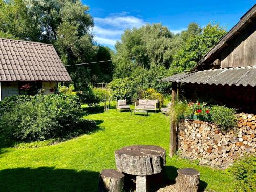
[{"label": "bright green leafy tree right beside the shed's sloping upper roof edge", "polygon": [[207,26],[202,28],[200,33],[200,30],[196,31],[196,33],[187,32],[187,34],[190,35],[188,35],[187,40],[184,41],[181,49],[174,55],[174,61],[169,69],[170,74],[181,73],[184,70],[190,70],[193,68],[197,62],[226,34],[226,30],[223,27],[219,24],[212,23],[209,23]]}]

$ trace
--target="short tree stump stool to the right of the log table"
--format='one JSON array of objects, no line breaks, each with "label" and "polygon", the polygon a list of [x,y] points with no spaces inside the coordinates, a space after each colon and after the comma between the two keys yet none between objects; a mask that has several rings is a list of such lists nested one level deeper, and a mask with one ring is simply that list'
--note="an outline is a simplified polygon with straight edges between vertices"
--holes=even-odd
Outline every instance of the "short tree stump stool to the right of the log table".
[{"label": "short tree stump stool to the right of the log table", "polygon": [[179,169],[176,178],[176,189],[179,192],[197,192],[200,173],[193,168]]}]

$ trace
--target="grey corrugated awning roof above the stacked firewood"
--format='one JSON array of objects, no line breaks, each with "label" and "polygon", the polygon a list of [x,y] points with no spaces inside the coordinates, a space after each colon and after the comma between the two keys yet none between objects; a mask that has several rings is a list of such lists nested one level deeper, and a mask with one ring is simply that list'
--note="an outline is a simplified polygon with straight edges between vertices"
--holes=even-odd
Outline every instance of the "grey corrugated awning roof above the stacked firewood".
[{"label": "grey corrugated awning roof above the stacked firewood", "polygon": [[224,86],[256,86],[256,66],[211,69],[198,72],[180,73],[166,77],[162,82],[197,84],[221,84]]}]

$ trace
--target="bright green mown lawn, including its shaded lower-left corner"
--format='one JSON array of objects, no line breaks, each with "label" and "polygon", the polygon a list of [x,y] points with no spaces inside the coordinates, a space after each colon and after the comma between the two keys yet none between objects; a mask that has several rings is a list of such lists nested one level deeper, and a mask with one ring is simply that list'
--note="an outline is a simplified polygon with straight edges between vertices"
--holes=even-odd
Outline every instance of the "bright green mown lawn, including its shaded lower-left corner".
[{"label": "bright green mown lawn, including its shaded lower-left corner", "polygon": [[[168,156],[169,124],[164,115],[131,116],[115,109],[89,113],[86,118],[96,120],[99,128],[92,134],[40,148],[0,147],[0,191],[97,191],[99,173],[115,168],[114,151],[118,148],[158,145]],[[201,190],[233,191],[226,172],[179,158],[167,157],[166,161],[170,182],[177,169],[193,167],[200,172]]]}]

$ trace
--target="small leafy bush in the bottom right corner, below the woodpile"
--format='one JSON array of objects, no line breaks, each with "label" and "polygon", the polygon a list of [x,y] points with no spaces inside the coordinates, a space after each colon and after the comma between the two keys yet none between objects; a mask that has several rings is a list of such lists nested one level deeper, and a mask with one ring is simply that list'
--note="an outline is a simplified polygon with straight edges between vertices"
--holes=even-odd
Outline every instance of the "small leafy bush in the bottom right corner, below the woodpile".
[{"label": "small leafy bush in the bottom right corner, below the woodpile", "polygon": [[236,191],[252,192],[256,189],[256,156],[246,156],[229,168],[234,178]]}]

